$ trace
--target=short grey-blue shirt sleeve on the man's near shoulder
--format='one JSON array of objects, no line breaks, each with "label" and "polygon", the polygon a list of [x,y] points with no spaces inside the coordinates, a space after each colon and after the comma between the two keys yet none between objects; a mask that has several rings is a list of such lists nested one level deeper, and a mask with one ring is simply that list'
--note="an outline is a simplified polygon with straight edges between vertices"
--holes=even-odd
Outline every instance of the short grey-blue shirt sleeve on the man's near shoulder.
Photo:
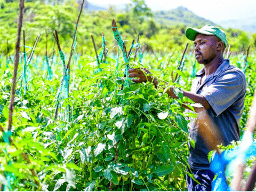
[{"label": "short grey-blue shirt sleeve on the man's near shoulder", "polygon": [[243,74],[238,71],[225,71],[217,80],[200,93],[211,106],[215,116],[219,116],[223,111],[233,105],[244,93]]}]

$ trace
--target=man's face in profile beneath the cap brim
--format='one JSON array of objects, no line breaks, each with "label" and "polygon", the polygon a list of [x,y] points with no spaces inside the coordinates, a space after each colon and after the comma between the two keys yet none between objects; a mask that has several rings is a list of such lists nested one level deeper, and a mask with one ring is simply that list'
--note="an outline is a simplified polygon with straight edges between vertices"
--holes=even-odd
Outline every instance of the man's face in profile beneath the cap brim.
[{"label": "man's face in profile beneath the cap brim", "polygon": [[210,63],[217,56],[217,47],[220,39],[215,35],[197,34],[195,45],[196,60],[200,64]]}]

